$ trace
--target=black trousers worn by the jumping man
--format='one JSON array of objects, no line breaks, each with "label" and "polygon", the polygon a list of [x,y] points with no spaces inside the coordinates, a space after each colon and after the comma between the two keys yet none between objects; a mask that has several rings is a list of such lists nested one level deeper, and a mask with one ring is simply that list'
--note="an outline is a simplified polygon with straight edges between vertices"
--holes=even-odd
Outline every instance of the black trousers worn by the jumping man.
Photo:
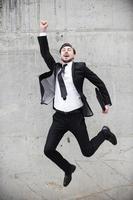
[{"label": "black trousers worn by the jumping man", "polygon": [[67,114],[57,111],[53,115],[53,123],[47,136],[44,154],[66,174],[70,172],[71,164],[62,157],[56,147],[67,131],[73,133],[79,143],[82,154],[87,157],[92,156],[105,140],[102,131],[91,140],[89,139],[85,119],[80,109]]}]

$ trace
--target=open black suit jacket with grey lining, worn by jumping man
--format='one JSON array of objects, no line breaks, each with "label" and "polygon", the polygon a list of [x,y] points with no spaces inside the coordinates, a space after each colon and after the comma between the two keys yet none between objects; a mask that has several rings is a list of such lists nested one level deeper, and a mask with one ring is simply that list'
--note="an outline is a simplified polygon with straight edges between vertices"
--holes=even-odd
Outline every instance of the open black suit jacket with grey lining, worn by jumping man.
[{"label": "open black suit jacket with grey lining, worn by jumping man", "polygon": [[[50,72],[41,74],[39,76],[40,91],[41,91],[41,103],[48,104],[52,99],[54,99],[54,86],[55,86],[55,75],[60,69],[60,63],[56,63],[49,51],[49,45],[47,36],[38,37],[38,42],[40,45],[41,55],[44,58]],[[87,78],[91,83],[99,88],[103,96],[105,105],[112,105],[109,93],[103,81],[92,72],[84,62],[73,62],[72,64],[72,78],[73,83],[80,94],[83,102],[83,114],[85,117],[93,115],[93,112],[83,94],[83,82]],[[48,100],[47,100],[48,99]]]}]

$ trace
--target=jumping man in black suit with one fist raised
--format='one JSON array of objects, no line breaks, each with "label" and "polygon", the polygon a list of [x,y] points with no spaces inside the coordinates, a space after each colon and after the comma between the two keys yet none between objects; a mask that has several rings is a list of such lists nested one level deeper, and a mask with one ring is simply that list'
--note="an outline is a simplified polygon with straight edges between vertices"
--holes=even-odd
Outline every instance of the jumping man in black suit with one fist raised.
[{"label": "jumping man in black suit with one fist raised", "polygon": [[53,122],[47,136],[44,153],[64,171],[63,185],[67,186],[72,179],[72,173],[75,171],[76,166],[70,164],[56,150],[57,145],[67,131],[74,134],[82,154],[87,157],[92,156],[105,140],[116,145],[117,139],[107,126],[104,126],[97,136],[91,140],[89,139],[84,117],[92,116],[93,112],[83,94],[84,79],[87,78],[101,92],[105,103],[103,113],[108,113],[109,106],[112,105],[109,93],[103,81],[88,69],[85,63],[74,62],[76,51],[71,44],[65,43],[61,46],[59,51],[61,63],[55,62],[49,51],[47,27],[47,21],[42,20],[38,41],[41,55],[50,72],[39,77],[41,101],[47,104],[54,98],[53,106],[56,112],[53,115]]}]

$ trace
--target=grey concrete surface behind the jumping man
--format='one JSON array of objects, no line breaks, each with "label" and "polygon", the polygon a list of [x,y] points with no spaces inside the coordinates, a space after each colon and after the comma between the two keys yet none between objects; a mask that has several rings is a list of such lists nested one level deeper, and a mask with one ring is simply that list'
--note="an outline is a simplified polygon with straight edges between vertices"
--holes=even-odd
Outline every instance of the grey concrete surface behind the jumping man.
[{"label": "grey concrete surface behind the jumping man", "polygon": [[[50,49],[71,42],[106,83],[113,106],[101,113],[94,86],[84,91],[94,111],[86,118],[90,138],[110,126],[118,145],[105,142],[91,158],[71,133],[58,150],[77,166],[71,184],[43,155],[52,105],[40,105],[40,19],[49,22]],[[0,200],[133,200],[133,1],[0,0]],[[69,140],[68,140],[69,138]]]}]

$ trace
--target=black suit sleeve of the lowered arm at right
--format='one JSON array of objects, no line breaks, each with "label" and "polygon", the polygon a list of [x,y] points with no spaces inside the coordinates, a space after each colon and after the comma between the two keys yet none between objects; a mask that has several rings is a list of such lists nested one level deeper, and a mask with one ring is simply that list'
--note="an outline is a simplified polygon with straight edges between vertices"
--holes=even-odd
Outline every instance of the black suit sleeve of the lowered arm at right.
[{"label": "black suit sleeve of the lowered arm at right", "polygon": [[108,90],[104,84],[104,82],[94,73],[92,72],[85,64],[85,78],[87,78],[91,83],[93,83],[96,87],[99,88],[103,98],[104,103],[106,105],[112,105],[110,95],[108,93]]}]

